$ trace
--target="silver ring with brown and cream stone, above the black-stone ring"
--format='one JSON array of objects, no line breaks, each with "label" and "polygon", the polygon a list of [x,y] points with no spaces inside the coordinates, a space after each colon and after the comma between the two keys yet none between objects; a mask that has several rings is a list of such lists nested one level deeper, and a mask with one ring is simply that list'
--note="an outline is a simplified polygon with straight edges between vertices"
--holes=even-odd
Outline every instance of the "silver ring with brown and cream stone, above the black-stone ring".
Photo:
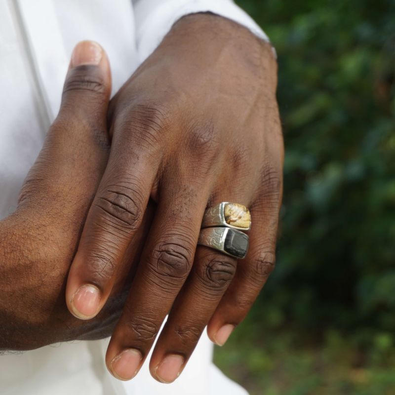
[{"label": "silver ring with brown and cream stone, above the black-stone ring", "polygon": [[204,212],[201,228],[225,226],[239,231],[251,229],[251,214],[247,207],[223,201]]}]

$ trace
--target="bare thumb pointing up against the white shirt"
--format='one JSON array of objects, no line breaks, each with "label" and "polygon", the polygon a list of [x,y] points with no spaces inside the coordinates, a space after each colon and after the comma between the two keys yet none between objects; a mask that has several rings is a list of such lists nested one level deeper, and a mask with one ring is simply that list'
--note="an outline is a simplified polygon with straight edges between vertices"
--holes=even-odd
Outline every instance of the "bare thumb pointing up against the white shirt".
[{"label": "bare thumb pointing up against the white shirt", "polygon": [[[64,215],[64,224],[80,218],[81,210],[86,212],[108,158],[110,91],[105,52],[95,42],[80,42],[73,52],[59,114],[25,180],[19,209],[33,202],[36,209],[42,206],[54,215],[56,211],[57,219]],[[67,197],[62,212],[58,210],[59,197]]]}]

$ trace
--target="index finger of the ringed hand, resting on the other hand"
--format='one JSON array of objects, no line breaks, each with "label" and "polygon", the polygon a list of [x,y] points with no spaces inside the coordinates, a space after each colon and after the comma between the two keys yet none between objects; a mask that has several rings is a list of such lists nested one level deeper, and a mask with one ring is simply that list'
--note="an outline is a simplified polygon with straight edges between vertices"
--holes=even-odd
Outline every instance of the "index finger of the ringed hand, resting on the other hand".
[{"label": "index finger of the ringed hand, resting on the other hand", "polygon": [[67,280],[66,303],[78,318],[92,318],[103,308],[147,208],[160,155],[154,146],[141,148],[136,135],[150,134],[140,129],[142,123],[150,128],[149,121],[145,122],[135,118],[131,126],[135,130],[115,125],[106,171],[90,206]]}]

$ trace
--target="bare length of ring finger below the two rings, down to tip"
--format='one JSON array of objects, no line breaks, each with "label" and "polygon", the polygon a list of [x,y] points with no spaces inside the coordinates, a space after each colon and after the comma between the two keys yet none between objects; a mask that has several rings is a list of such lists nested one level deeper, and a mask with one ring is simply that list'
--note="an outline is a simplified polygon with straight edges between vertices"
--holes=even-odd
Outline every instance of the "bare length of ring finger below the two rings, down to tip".
[{"label": "bare length of ring finger below the two rings, down to tip", "polygon": [[[174,302],[150,361],[153,377],[172,382],[181,373],[236,273],[237,260],[197,246],[193,269]],[[181,356],[183,364],[171,363]],[[176,369],[174,369],[176,367]]]}]

